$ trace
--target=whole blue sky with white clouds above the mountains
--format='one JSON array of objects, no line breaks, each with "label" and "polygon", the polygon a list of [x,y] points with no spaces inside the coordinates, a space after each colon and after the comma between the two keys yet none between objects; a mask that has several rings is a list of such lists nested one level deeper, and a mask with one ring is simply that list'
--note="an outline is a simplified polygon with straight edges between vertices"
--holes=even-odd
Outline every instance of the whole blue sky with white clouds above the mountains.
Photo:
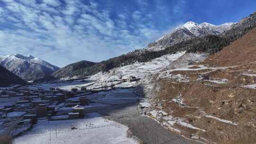
[{"label": "whole blue sky with white clouds above the mountains", "polygon": [[0,0],[0,56],[100,62],[187,21],[219,25],[254,11],[256,0]]}]

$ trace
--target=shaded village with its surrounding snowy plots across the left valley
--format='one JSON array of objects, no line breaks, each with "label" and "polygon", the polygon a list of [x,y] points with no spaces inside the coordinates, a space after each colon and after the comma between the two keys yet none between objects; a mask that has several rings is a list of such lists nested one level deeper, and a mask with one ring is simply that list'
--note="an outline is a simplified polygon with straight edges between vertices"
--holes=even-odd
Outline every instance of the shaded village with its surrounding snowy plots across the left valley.
[{"label": "shaded village with its surrounding snowy plots across the left valley", "polygon": [[[116,82],[116,84],[136,81],[135,77],[129,77],[125,81]],[[57,85],[59,87],[68,86],[68,90],[51,87]],[[94,86],[94,88],[90,89],[90,86]],[[56,123],[56,121],[86,119],[95,115],[95,112],[113,109],[121,105],[125,107],[126,104],[137,103],[142,99],[134,93],[133,88],[121,89],[111,85],[109,88],[99,90],[98,87],[99,84],[93,81],[58,81],[50,84],[16,85],[6,89],[1,88],[0,135],[7,134],[17,137],[26,134],[33,129],[33,126],[42,121],[47,124],[51,121]],[[92,123],[89,123],[88,127],[89,125],[92,126]],[[73,130],[77,127],[70,126],[69,129]]]}]

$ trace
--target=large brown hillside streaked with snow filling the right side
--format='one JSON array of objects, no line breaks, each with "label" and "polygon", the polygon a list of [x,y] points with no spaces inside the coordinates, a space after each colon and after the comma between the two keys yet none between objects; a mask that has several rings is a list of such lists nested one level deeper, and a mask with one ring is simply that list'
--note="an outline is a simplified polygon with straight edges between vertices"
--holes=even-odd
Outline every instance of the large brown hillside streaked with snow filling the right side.
[{"label": "large brown hillside streaked with snow filling the right side", "polygon": [[201,63],[182,56],[153,75],[145,87],[147,115],[194,140],[255,144],[254,37],[256,28]]}]

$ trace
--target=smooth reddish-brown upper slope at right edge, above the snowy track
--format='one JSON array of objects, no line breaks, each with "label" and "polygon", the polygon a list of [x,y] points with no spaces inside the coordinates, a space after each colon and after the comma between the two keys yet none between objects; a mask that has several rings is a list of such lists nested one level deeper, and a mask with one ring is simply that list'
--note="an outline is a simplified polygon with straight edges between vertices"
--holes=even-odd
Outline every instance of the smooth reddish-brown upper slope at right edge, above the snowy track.
[{"label": "smooth reddish-brown upper slope at right edge, above the snowy track", "polygon": [[256,63],[256,28],[239,38],[220,52],[207,58],[204,64],[234,66]]}]

